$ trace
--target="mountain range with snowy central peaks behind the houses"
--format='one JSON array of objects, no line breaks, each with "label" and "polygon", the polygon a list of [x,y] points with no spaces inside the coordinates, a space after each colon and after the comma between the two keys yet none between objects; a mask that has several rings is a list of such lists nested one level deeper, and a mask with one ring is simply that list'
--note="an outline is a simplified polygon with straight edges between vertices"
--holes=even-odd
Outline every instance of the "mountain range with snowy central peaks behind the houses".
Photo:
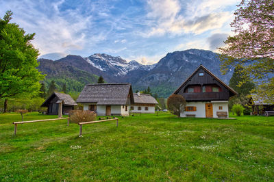
[{"label": "mountain range with snowy central peaks behind the houses", "polygon": [[71,92],[81,92],[86,83],[95,83],[102,76],[108,83],[128,82],[133,89],[144,90],[148,86],[158,96],[168,97],[200,65],[206,66],[214,75],[229,82],[232,70],[221,75],[220,61],[212,51],[188,49],[167,53],[153,65],[136,61],[127,62],[121,57],[95,53],[88,57],[67,55],[60,60],[38,59],[38,69],[47,74],[46,84],[54,80],[58,86],[66,83]]}]

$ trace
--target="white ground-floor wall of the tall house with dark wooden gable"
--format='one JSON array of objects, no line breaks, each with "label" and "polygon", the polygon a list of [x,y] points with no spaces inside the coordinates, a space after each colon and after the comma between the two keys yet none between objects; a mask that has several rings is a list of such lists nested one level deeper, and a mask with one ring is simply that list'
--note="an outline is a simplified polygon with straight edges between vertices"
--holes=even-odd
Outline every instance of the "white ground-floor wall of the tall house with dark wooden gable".
[{"label": "white ground-floor wall of the tall house with dark wooden gable", "polygon": [[[206,118],[206,103],[211,102],[188,102],[186,106],[196,106],[196,112],[184,112],[181,113],[181,117],[186,117],[186,114],[195,114],[196,118]],[[220,110],[219,106],[222,106],[223,109]],[[212,101],[213,107],[213,118],[218,118],[217,112],[227,112],[228,114],[228,102],[227,101]]]}]

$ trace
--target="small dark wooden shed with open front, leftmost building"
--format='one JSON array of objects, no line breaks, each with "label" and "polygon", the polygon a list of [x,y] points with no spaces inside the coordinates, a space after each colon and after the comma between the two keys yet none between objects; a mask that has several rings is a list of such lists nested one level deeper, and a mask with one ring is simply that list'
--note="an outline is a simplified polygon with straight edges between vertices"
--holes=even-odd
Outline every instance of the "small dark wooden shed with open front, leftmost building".
[{"label": "small dark wooden shed with open front, leftmost building", "polygon": [[49,115],[58,115],[60,113],[69,114],[75,105],[77,105],[77,103],[69,94],[54,92],[42,103],[41,107],[47,107],[47,114]]}]

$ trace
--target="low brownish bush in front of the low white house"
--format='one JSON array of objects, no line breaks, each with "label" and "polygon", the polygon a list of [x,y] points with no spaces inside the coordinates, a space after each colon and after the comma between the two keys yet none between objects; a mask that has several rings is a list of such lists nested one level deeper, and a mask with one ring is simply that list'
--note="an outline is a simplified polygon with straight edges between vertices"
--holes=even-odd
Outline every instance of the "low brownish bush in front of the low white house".
[{"label": "low brownish bush in front of the low white house", "polygon": [[72,110],[69,120],[74,123],[96,120],[96,113],[92,111]]}]

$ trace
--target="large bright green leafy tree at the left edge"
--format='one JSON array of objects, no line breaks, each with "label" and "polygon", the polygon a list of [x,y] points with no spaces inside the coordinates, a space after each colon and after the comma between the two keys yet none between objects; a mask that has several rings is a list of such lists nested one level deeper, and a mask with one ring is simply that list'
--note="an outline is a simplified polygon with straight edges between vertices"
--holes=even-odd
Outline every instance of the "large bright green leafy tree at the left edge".
[{"label": "large bright green leafy tree at the left edge", "polygon": [[38,50],[30,43],[35,34],[25,34],[11,18],[8,11],[0,19],[0,99],[36,95],[44,78],[37,69]]}]

